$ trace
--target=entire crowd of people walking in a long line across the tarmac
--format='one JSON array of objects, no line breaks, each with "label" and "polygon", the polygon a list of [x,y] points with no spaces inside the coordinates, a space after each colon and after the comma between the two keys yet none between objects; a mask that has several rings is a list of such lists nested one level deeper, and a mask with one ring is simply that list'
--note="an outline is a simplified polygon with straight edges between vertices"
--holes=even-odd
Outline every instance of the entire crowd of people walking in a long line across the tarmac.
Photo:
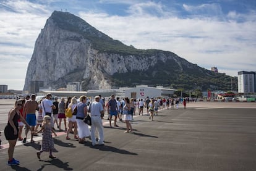
[{"label": "entire crowd of people walking in a long line across the tarmac", "polygon": [[[145,98],[145,99],[129,99],[115,98],[114,95],[105,102],[101,96],[95,96],[93,102],[88,102],[86,96],[80,96],[79,100],[76,97],[61,98],[58,97],[51,101],[52,95],[46,94],[44,99],[35,101],[36,96],[32,94],[25,99],[18,99],[15,101],[15,106],[9,112],[8,123],[4,129],[4,135],[9,142],[7,165],[18,165],[19,161],[14,159],[14,148],[17,140],[26,143],[28,131],[31,131],[30,143],[35,143],[33,137],[38,133],[43,133],[43,140],[41,150],[36,152],[38,159],[43,151],[49,152],[49,158],[56,158],[52,152],[54,143],[52,133],[56,136],[57,125],[59,131],[65,131],[66,140],[70,140],[70,133],[74,134],[74,139],[79,143],[85,143],[85,138],[89,137],[92,140],[92,146],[104,145],[104,133],[102,119],[105,112],[108,114],[109,127],[112,127],[112,118],[114,116],[114,127],[117,125],[117,118],[120,122],[126,123],[126,131],[124,133],[133,133],[133,128],[130,121],[133,120],[136,108],[139,110],[139,115],[143,115],[143,109],[147,109],[149,119],[153,121],[154,115],[158,115],[158,109],[178,109],[179,103],[182,103],[186,109],[186,99],[173,99],[173,98]],[[66,110],[72,111],[72,115],[66,120]],[[38,115],[36,116],[36,111]],[[92,120],[92,125],[87,125],[83,120],[88,117]],[[62,129],[62,120],[64,121],[64,130]],[[22,138],[22,130],[25,125],[25,137]],[[38,130],[40,128],[40,130]],[[98,130],[98,141],[96,141],[95,132]]]}]

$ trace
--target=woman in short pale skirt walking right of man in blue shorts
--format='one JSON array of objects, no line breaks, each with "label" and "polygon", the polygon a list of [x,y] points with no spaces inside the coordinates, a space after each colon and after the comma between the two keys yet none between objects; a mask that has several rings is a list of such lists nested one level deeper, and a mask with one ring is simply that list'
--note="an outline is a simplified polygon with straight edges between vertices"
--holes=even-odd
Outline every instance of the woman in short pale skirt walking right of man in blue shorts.
[{"label": "woman in short pale skirt walking right of man in blue shorts", "polygon": [[132,133],[132,125],[130,124],[130,120],[132,120],[132,115],[130,114],[130,100],[129,98],[125,98],[124,101],[126,102],[123,109],[124,122],[126,122],[126,131],[124,131],[124,133]]}]

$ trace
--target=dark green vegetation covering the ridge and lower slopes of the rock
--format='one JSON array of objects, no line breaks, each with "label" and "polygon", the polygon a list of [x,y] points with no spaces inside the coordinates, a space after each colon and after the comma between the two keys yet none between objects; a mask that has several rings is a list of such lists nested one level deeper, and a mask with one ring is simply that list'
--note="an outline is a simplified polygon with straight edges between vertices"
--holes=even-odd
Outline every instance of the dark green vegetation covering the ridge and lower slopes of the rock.
[{"label": "dark green vegetation covering the ridge and lower slopes of the rock", "polygon": [[[106,75],[109,81],[116,87],[135,85],[164,85],[174,89],[182,90],[231,90],[231,77],[223,73],[215,73],[210,70],[198,67],[187,60],[178,57],[173,52],[157,49],[135,49],[127,46],[121,41],[113,40],[108,35],[89,25],[79,17],[68,12],[54,11],[50,17],[54,23],[63,30],[79,33],[92,43],[92,48],[107,54],[119,54],[120,56],[149,57],[160,56],[176,57],[176,60],[169,59],[166,62],[161,60],[154,67],[146,71],[133,70],[128,73],[114,73]],[[177,62],[177,60],[179,60]],[[82,80],[81,80],[82,81]],[[87,80],[88,81],[88,80]],[[85,85],[85,83],[83,84]],[[233,78],[233,89],[237,90],[237,77]]]}]

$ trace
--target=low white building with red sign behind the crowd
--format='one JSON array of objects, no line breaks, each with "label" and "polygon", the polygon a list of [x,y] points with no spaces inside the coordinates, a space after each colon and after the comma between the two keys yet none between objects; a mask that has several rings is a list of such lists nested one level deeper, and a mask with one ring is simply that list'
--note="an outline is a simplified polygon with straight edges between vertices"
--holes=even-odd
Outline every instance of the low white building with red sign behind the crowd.
[{"label": "low white building with red sign behind the crowd", "polygon": [[141,98],[145,99],[147,96],[149,98],[158,98],[158,97],[170,97],[174,94],[174,89],[163,88],[163,86],[149,87],[147,85],[139,85],[135,88],[129,88],[125,91],[125,96],[128,98]]}]

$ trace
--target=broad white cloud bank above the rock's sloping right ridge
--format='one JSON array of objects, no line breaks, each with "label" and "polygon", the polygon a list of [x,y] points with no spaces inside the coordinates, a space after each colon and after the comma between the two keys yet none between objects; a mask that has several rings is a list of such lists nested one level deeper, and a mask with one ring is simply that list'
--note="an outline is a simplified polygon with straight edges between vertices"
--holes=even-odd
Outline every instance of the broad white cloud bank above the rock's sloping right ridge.
[{"label": "broad white cloud bank above the rock's sloping right ridge", "polygon": [[[152,3],[148,6],[153,6]],[[156,6],[161,9],[159,4]],[[134,7],[125,17],[86,12],[80,12],[80,17],[112,38],[135,48],[173,51],[189,62],[206,69],[220,67],[219,72],[233,76],[239,70],[254,70],[255,65],[249,64],[254,62],[256,22],[226,22],[216,17],[182,19],[168,12],[164,14],[163,10],[159,10],[163,12],[161,17],[155,17],[144,7],[143,4]],[[221,14],[216,4],[198,6],[198,9],[211,9],[211,12]],[[195,9],[187,7],[187,10]],[[247,17],[254,17],[251,15]],[[241,65],[241,60],[244,65]]]}]

